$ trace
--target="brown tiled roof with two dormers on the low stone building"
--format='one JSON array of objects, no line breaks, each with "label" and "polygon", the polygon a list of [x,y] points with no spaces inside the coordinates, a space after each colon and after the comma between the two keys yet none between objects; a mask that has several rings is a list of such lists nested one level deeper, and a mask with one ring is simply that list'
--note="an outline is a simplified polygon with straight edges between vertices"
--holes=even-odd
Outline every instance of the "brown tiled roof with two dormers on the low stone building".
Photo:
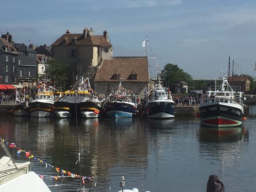
[{"label": "brown tiled roof with two dormers on the low stone building", "polygon": [[[96,73],[94,81],[117,81],[110,78],[114,74],[120,74],[122,81],[148,82],[148,59],[147,57],[115,57],[104,59]],[[128,80],[131,74],[137,75],[137,80]]]}]

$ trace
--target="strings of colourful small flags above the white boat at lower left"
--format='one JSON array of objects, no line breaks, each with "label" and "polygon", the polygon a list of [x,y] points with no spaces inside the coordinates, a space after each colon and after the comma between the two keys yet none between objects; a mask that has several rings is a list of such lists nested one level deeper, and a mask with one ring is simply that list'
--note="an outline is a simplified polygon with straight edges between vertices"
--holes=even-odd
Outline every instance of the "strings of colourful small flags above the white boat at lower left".
[{"label": "strings of colourful small flags above the white boat at lower left", "polygon": [[10,148],[17,148],[18,151],[17,151],[17,156],[19,157],[21,152],[24,152],[25,153],[25,156],[28,158],[28,159],[33,159],[33,160],[38,160],[40,163],[44,163],[45,164],[45,169],[47,167],[49,168],[52,168],[52,169],[55,169],[58,173],[61,174],[61,176],[47,176],[47,175],[39,175],[41,179],[47,179],[47,178],[50,178],[51,180],[58,180],[60,178],[63,178],[63,177],[67,177],[67,176],[70,176],[70,177],[73,177],[73,178],[80,178],[82,179],[83,181],[83,184],[85,184],[85,181],[92,181],[94,177],[87,177],[87,176],[80,176],[80,175],[77,175],[77,174],[74,174],[74,173],[71,173],[69,171],[66,171],[64,169],[61,169],[59,167],[55,167],[49,163],[46,162],[46,160],[41,160],[37,157],[35,157],[33,154],[31,154],[31,151],[26,151],[26,150],[23,150],[19,147],[16,146],[16,143],[10,143],[6,140],[2,140],[2,142],[6,145],[6,146],[9,146]]}]

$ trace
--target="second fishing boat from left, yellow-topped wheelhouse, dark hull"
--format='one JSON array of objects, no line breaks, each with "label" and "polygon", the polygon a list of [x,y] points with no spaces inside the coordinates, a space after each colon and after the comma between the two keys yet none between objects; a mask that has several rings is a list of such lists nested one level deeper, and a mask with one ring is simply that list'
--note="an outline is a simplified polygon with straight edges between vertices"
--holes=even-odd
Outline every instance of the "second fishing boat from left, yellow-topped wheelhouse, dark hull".
[{"label": "second fishing boat from left, yellow-topped wheelhouse, dark hull", "polygon": [[[42,89],[42,90],[41,90]],[[54,117],[54,94],[53,87],[48,90],[46,87],[39,88],[36,94],[36,99],[28,103],[31,117]]]}]

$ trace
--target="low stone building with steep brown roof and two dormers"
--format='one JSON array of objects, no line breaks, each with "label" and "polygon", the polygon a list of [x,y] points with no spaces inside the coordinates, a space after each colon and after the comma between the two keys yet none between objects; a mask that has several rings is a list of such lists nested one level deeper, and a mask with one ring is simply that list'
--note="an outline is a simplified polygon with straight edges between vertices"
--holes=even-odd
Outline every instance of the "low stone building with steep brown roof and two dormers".
[{"label": "low stone building with steep brown roof and two dormers", "polygon": [[104,59],[95,76],[95,91],[108,96],[118,86],[120,80],[124,88],[135,92],[140,98],[144,97],[149,83],[147,57]]}]

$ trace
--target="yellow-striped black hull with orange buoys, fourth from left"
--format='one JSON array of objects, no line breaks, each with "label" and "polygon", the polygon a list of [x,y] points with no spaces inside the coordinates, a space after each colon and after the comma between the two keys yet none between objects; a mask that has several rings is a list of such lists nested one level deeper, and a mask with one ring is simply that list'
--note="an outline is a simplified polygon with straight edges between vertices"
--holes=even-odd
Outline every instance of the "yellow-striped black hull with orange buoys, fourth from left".
[{"label": "yellow-striped black hull with orange buoys, fourth from left", "polygon": [[80,102],[80,111],[82,117],[97,118],[101,111],[101,107],[96,102],[87,100]]}]

